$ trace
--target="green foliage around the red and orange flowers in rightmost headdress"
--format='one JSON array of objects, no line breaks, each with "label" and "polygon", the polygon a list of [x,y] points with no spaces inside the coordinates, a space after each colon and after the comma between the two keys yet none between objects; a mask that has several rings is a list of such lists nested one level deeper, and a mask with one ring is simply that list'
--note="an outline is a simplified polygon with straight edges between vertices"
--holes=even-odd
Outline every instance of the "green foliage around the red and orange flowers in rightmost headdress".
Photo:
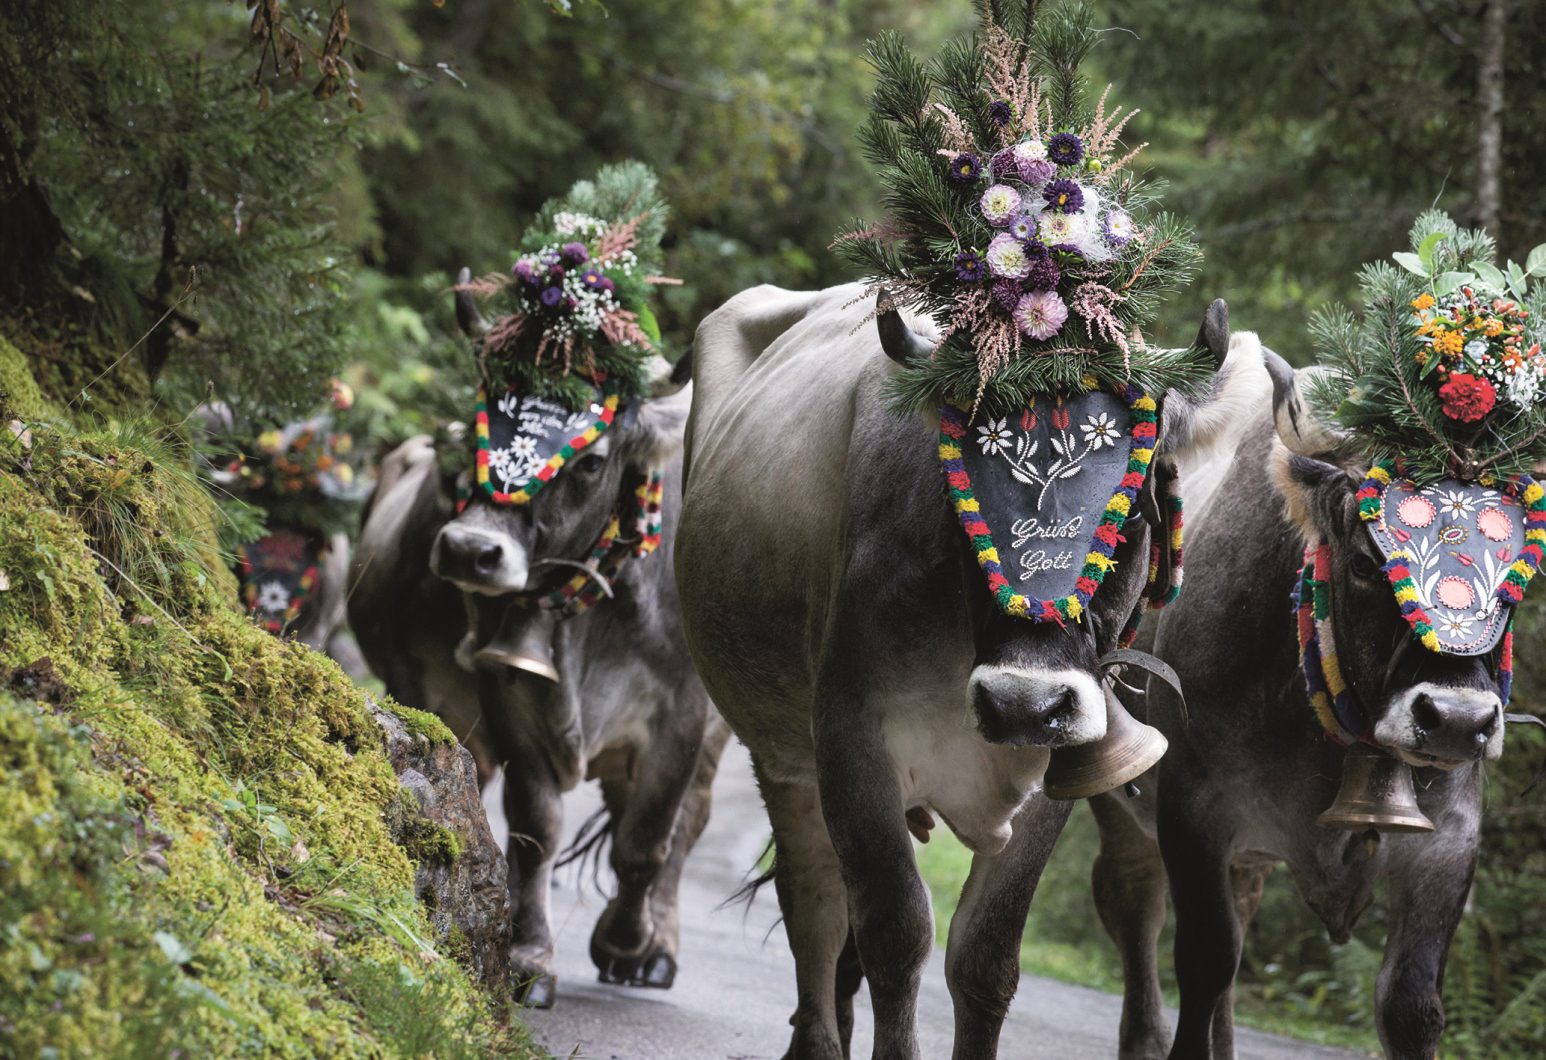
[{"label": "green foliage around the red and orange flowers in rightmost headdress", "polygon": [[[1438,386],[1447,362],[1419,340],[1419,295],[1438,298],[1442,307],[1447,297],[1475,289],[1484,306],[1507,298],[1523,303],[1531,314],[1523,343],[1538,349],[1532,329],[1538,332],[1535,321],[1546,312],[1546,283],[1529,283],[1512,261],[1504,278],[1492,255],[1486,232],[1463,230],[1430,210],[1413,224],[1411,252],[1396,253],[1396,266],[1376,261],[1362,269],[1357,315],[1334,306],[1313,318],[1319,360],[1328,371],[1314,379],[1311,402],[1326,422],[1351,431],[1371,460],[1404,460],[1429,481],[1456,473],[1514,476],[1546,459],[1546,405],[1517,405],[1500,386],[1497,406],[1484,419],[1452,419]],[[1481,372],[1470,354],[1456,351],[1449,363],[1456,372]]]}]

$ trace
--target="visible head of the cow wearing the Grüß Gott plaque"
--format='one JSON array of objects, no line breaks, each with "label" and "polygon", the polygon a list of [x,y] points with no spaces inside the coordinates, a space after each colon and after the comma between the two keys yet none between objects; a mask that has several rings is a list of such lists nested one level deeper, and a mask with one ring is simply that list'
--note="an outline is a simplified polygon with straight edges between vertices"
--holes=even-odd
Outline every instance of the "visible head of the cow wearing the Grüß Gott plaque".
[{"label": "visible head of the cow wearing the Gr\u00fc\u00df Gott plaque", "polygon": [[[895,311],[881,312],[877,323],[881,346],[894,362],[908,363],[932,352],[932,343],[915,334]],[[1112,694],[1102,683],[1099,663],[1118,646],[1146,592],[1150,525],[1163,524],[1155,482],[1177,474],[1178,468],[1184,471],[1197,454],[1232,442],[1248,419],[1245,413],[1265,400],[1269,386],[1260,343],[1251,334],[1231,338],[1223,300],[1209,307],[1197,343],[1214,357],[1214,383],[1197,399],[1155,396],[1161,402],[1160,440],[1147,484],[1121,527],[1112,553],[1115,566],[1078,621],[1028,621],[1003,613],[982,592],[983,575],[977,564],[968,561],[966,579],[972,584],[966,598],[976,601],[977,654],[966,689],[966,723],[988,742],[1057,748],[1105,736]],[[972,440],[976,430],[974,423]],[[1125,439],[1119,445],[1125,465]],[[1184,485],[1184,476],[1181,482]],[[1082,561],[1088,539],[1085,530],[1076,541],[1076,561]],[[1011,544],[996,539],[999,550]]]}]

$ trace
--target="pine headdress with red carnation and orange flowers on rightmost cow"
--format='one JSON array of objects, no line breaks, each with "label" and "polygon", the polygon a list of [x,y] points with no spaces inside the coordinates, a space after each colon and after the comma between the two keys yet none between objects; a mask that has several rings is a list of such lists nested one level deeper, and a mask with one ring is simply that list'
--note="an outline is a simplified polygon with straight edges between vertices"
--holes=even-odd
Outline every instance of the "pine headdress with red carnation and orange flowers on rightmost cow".
[{"label": "pine headdress with red carnation and orange flowers on rightmost cow", "polygon": [[1359,273],[1364,311],[1314,321],[1311,400],[1368,456],[1419,481],[1507,479],[1546,459],[1546,246],[1493,264],[1486,232],[1430,210],[1396,264]]}]

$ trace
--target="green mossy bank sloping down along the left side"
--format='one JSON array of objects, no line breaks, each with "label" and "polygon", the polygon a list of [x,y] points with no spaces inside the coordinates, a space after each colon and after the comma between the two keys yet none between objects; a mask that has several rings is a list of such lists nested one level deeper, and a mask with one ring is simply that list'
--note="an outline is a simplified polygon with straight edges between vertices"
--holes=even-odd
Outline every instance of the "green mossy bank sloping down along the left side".
[{"label": "green mossy bank sloping down along the left side", "polygon": [[365,697],[235,609],[176,428],[73,420],[12,352],[0,1054],[535,1055],[428,941],[411,859],[456,844],[391,841]]}]

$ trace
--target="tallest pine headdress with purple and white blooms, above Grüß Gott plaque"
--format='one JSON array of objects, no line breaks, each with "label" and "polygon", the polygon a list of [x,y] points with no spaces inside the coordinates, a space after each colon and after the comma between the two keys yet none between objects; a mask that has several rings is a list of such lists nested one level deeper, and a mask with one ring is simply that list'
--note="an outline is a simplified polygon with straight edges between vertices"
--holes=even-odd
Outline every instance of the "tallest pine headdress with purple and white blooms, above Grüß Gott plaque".
[{"label": "tallest pine headdress with purple and white blooms, above Gr\u00fc\u00df Gott plaque", "polygon": [[1110,90],[1085,100],[1090,11],[1037,6],[986,5],[982,36],[928,65],[895,34],[870,48],[863,142],[887,210],[836,246],[872,292],[943,328],[934,355],[894,380],[906,408],[1002,414],[1037,394],[1161,392],[1207,371],[1197,351],[1156,349],[1141,332],[1200,252],[1127,168],[1142,150],[1121,142],[1136,111],[1108,111]]}]

